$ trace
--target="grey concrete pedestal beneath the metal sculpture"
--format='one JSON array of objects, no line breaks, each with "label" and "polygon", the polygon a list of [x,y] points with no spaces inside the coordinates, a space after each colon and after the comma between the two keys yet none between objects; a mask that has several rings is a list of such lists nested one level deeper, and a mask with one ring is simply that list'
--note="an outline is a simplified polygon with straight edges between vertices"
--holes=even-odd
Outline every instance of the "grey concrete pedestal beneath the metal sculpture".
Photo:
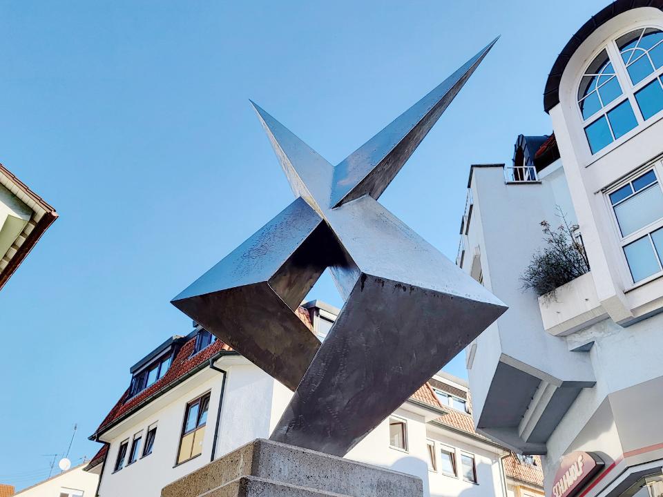
[{"label": "grey concrete pedestal beneath the metal sculpture", "polygon": [[164,487],[161,496],[423,497],[423,483],[416,476],[258,438]]}]

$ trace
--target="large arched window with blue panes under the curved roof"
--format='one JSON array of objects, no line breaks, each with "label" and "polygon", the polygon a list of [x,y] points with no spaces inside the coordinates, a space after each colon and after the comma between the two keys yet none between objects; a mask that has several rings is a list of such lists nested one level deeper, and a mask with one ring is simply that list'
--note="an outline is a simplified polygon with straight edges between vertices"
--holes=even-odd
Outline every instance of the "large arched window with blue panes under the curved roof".
[{"label": "large arched window with blue panes under the curved roof", "polygon": [[639,28],[608,43],[580,79],[578,106],[592,154],[663,110],[663,32]]}]

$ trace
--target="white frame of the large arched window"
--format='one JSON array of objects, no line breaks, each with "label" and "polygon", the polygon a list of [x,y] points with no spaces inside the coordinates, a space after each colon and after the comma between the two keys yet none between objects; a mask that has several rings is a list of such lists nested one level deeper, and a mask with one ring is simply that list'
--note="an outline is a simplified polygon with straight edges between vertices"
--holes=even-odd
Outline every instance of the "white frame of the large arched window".
[{"label": "white frame of the large arched window", "polygon": [[[575,84],[573,86],[573,102],[575,104],[575,112],[580,122],[580,128],[582,130],[584,143],[588,150],[589,157],[591,158],[591,162],[595,162],[595,160],[597,160],[599,157],[603,157],[607,153],[611,152],[611,150],[614,150],[619,145],[626,142],[628,139],[631,139],[633,136],[637,135],[645,128],[648,128],[656,121],[659,121],[660,119],[663,118],[663,110],[660,110],[658,113],[651,116],[649,119],[645,121],[644,118],[642,117],[640,106],[638,106],[637,100],[635,99],[635,93],[637,93],[639,90],[642,90],[642,88],[644,88],[649,83],[651,83],[651,81],[653,81],[656,77],[663,78],[663,67],[659,69],[654,69],[651,75],[648,75],[646,78],[642,79],[642,81],[633,85],[631,83],[631,77],[628,75],[628,71],[626,70],[626,64],[624,63],[622,55],[620,54],[619,47],[617,46],[617,39],[628,34],[629,32],[642,30],[646,28],[655,28],[657,30],[663,31],[662,25],[656,23],[642,23],[642,22],[632,24],[628,28],[619,30],[617,33],[613,34],[610,37],[610,39],[601,43],[601,45],[597,48],[597,50],[595,50],[593,54],[590,57],[588,57],[587,63],[584,64],[583,66],[583,70],[575,79]],[[613,64],[613,69],[615,70],[617,81],[619,81],[619,86],[622,87],[622,95],[619,95],[619,97],[611,101],[610,104],[600,108],[593,115],[590,115],[587,119],[584,119],[584,117],[582,117],[582,111],[580,110],[579,106],[578,89],[580,88],[582,78],[585,76],[589,66],[593,63],[594,59],[596,59],[596,57],[598,57],[603,50],[606,50],[606,52],[608,53],[608,59]],[[619,104],[622,104],[622,102],[625,101],[624,97],[626,97],[626,99],[630,101],[631,108],[633,108],[633,115],[635,115],[635,120],[637,121],[635,128],[628,131],[628,133],[625,133],[621,137],[613,140],[613,142],[604,146],[604,148],[602,148],[601,150],[598,150],[597,153],[592,153],[592,150],[589,146],[589,140],[585,135],[585,128],[590,124],[593,124],[595,121],[597,121],[597,119],[600,119],[602,115],[606,115],[608,112],[613,110],[613,108],[617,107]],[[613,133],[612,126],[609,120],[608,120],[608,127],[610,128],[611,133]]]}]

